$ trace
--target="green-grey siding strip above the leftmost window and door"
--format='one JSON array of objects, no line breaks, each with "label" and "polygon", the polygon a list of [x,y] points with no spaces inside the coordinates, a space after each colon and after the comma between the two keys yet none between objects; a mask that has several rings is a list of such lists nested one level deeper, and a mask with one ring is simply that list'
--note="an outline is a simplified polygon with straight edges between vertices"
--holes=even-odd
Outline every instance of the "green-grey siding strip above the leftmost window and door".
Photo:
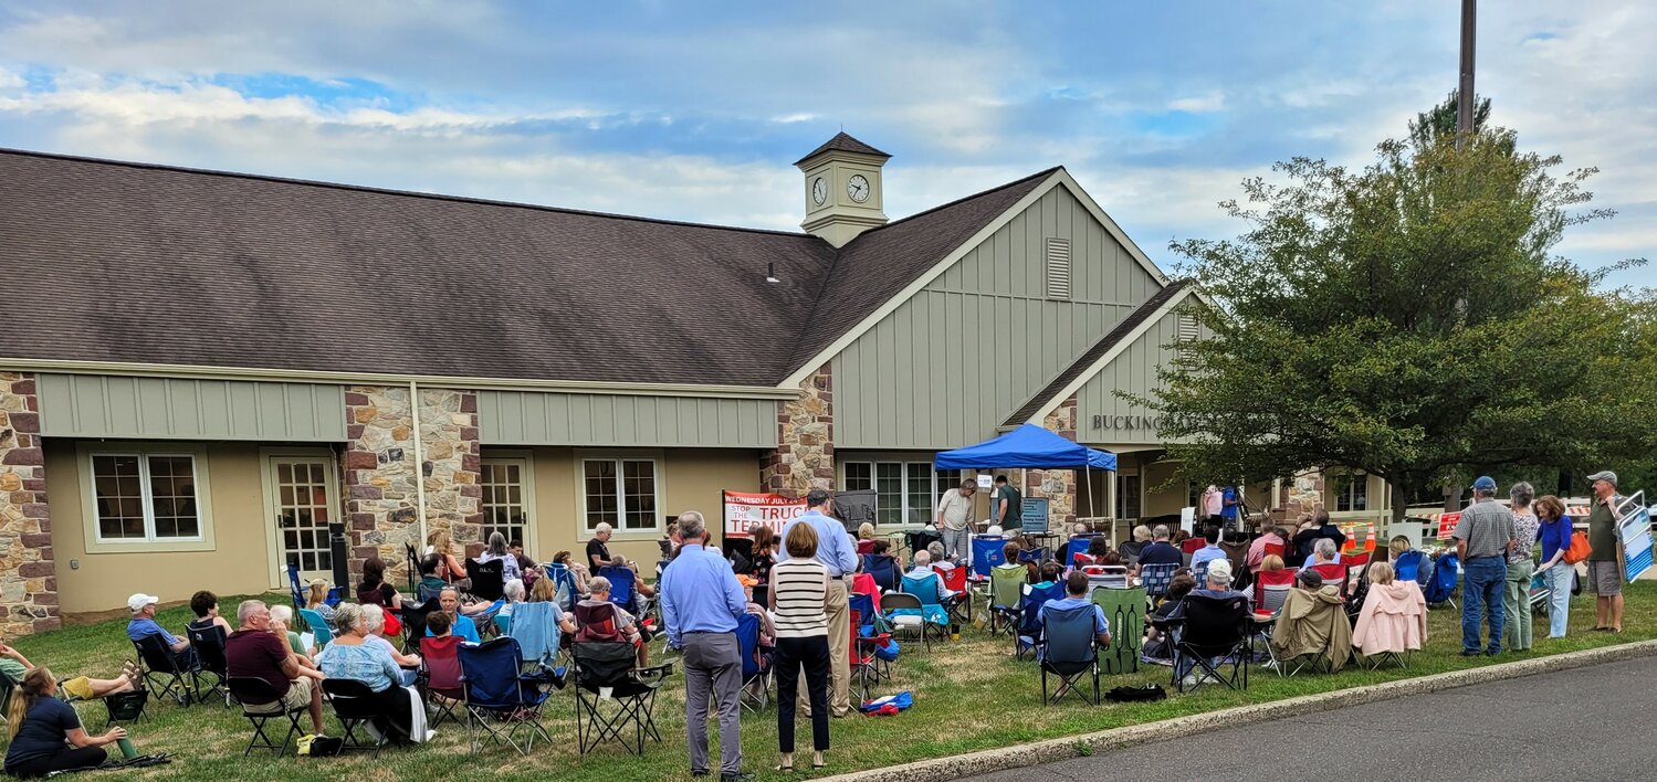
[{"label": "green-grey siding strip above the leftmost window and door", "polygon": [[345,388],[186,378],[41,374],[46,437],[345,441]]}]

